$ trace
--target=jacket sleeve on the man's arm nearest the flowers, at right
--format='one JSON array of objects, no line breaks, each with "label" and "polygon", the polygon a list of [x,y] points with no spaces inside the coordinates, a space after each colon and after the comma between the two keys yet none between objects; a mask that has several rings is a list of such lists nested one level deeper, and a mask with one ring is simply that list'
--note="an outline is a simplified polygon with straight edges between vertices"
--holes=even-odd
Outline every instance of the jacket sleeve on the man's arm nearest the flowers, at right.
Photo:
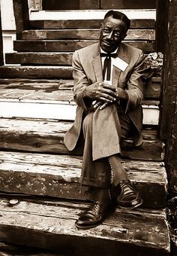
[{"label": "jacket sleeve on the man's arm nearest the flowers, at right", "polygon": [[136,61],[133,70],[130,73],[130,78],[127,81],[127,105],[125,107],[125,113],[132,111],[138,105],[141,104],[143,99],[143,83],[142,76],[144,74],[144,54],[142,51],[139,52],[139,57]]}]

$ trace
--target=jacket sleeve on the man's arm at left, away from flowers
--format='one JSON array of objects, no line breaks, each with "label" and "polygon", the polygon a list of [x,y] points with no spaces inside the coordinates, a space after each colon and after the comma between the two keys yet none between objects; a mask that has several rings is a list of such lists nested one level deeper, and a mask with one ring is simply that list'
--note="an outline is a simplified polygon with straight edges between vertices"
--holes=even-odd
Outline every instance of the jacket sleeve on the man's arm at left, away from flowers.
[{"label": "jacket sleeve on the man's arm at left, away from flowers", "polygon": [[73,78],[74,78],[74,101],[82,108],[89,108],[91,105],[90,99],[83,99],[83,91],[89,86],[89,81],[84,72],[78,51],[74,52],[73,56]]}]

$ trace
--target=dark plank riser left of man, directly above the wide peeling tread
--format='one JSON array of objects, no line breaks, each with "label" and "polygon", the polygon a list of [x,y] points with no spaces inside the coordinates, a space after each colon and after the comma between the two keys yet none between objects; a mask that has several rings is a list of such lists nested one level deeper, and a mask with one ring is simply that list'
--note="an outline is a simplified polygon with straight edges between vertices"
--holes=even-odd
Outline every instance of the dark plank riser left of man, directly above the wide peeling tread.
[{"label": "dark plank riser left of man, directly above the wide peeling tread", "polygon": [[72,79],[71,66],[3,66],[0,78]]}]

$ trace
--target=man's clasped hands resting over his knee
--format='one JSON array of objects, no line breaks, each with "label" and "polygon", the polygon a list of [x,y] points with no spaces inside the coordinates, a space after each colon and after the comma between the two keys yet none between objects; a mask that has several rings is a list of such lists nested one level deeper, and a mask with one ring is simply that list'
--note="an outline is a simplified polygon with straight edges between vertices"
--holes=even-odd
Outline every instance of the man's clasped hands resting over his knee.
[{"label": "man's clasped hands resting over his knee", "polygon": [[104,82],[91,84],[84,90],[83,96],[93,99],[92,107],[95,109],[104,109],[107,105],[117,102],[120,99],[127,99],[127,93],[121,88],[115,88],[113,85]]}]

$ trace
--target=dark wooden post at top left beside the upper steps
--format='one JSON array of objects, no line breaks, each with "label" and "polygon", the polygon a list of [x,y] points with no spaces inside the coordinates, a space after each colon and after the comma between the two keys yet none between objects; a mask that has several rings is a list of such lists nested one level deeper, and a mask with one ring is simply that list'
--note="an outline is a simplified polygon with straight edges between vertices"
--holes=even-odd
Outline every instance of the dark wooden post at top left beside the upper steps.
[{"label": "dark wooden post at top left beside the upper steps", "polygon": [[13,12],[16,22],[17,39],[21,39],[21,32],[30,28],[28,0],[13,0]]}]

